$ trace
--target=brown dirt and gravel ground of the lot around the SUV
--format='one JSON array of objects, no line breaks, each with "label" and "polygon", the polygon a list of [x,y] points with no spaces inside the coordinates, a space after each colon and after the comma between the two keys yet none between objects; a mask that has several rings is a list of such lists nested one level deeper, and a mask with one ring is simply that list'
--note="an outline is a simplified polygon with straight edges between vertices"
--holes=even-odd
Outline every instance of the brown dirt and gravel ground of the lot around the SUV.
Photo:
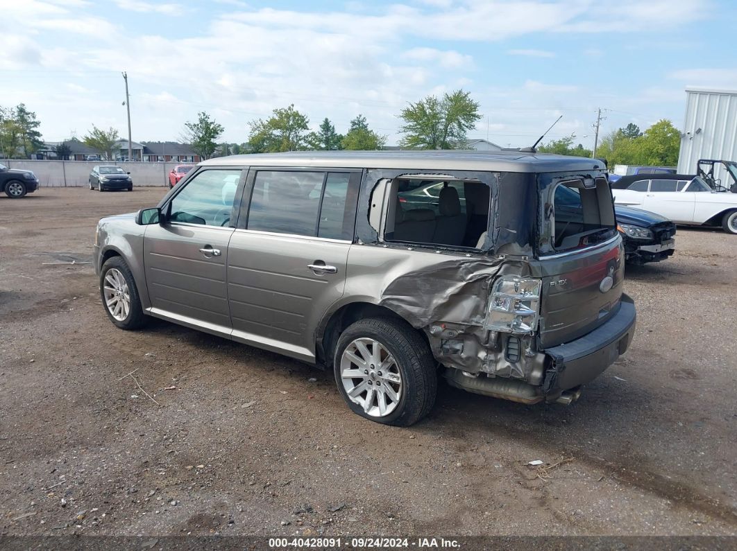
[{"label": "brown dirt and gravel ground of the lot around the SUV", "polygon": [[737,236],[627,269],[635,341],[574,405],[441,383],[399,429],[332,374],[108,321],[95,224],[165,191],[0,199],[1,535],[737,534]]}]

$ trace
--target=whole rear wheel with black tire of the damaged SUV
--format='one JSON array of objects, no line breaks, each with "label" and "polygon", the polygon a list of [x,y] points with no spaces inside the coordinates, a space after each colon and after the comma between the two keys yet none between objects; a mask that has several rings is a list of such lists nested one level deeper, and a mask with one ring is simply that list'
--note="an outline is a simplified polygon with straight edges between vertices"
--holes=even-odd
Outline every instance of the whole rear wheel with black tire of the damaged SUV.
[{"label": "whole rear wheel with black tire of the damaged SUV", "polygon": [[419,333],[402,320],[356,321],[340,335],[333,366],[346,404],[371,421],[409,427],[435,404],[436,361]]}]

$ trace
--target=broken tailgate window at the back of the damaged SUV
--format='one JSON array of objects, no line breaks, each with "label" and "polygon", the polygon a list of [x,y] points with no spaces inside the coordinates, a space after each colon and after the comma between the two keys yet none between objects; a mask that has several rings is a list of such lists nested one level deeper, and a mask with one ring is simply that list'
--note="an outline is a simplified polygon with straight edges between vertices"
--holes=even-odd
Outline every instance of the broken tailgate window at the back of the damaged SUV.
[{"label": "broken tailgate window at the back of the damaged SUV", "polygon": [[615,217],[607,181],[586,187],[580,179],[553,188],[552,244],[556,251],[593,245],[615,235]]}]

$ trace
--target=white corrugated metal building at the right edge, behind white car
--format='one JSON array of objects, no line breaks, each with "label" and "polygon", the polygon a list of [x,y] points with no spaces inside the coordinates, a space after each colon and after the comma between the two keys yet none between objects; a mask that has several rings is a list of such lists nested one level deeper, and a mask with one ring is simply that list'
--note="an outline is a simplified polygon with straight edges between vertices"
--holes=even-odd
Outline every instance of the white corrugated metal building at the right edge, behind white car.
[{"label": "white corrugated metal building at the right edge, behind white car", "polygon": [[696,174],[699,159],[737,160],[737,90],[686,88],[678,173]]}]

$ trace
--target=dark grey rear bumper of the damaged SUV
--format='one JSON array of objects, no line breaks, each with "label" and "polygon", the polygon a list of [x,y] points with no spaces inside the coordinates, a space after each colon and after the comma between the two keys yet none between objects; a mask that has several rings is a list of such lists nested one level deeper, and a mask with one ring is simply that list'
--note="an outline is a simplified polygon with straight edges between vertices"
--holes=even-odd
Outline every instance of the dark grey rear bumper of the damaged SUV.
[{"label": "dark grey rear bumper of the damaged SUV", "polygon": [[543,392],[556,394],[588,383],[626,352],[635,335],[635,302],[622,295],[618,312],[607,323],[570,343],[545,349],[553,360]]}]

